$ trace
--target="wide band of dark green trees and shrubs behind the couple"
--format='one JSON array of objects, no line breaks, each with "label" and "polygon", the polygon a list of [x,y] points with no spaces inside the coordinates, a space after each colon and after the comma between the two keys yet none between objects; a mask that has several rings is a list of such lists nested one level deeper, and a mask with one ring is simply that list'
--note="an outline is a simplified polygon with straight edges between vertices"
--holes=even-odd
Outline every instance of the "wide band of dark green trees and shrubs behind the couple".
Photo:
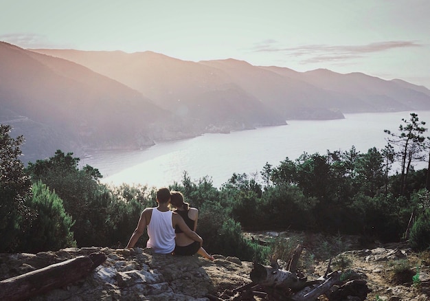
[{"label": "wide band of dark green trees and shrubs behind the couple", "polygon": [[[199,209],[197,232],[212,254],[263,260],[273,252],[247,241],[243,230],[292,229],[398,241],[412,213],[416,219],[409,242],[416,249],[429,249],[430,193],[423,189],[429,170],[415,171],[408,163],[422,159],[428,144],[422,133],[427,129],[414,113],[411,120],[403,122],[400,134],[387,131],[392,138],[383,150],[370,148],[359,153],[352,146],[346,151],[328,150],[326,155],[303,153],[295,161],[287,157],[279,166],[266,163],[260,173],[234,173],[220,189],[213,186],[210,177],[194,182],[184,172],[181,183],[173,183],[170,189],[183,192],[186,201]],[[43,225],[47,233],[60,232],[59,225],[53,227],[42,219],[49,212],[60,212],[61,221],[71,216],[75,223],[65,224],[71,226],[69,233],[73,232],[79,247],[124,246],[142,210],[157,205],[155,188],[105,186],[99,181],[100,172],[91,166],[80,168],[80,159],[73,153],[57,150],[54,157],[30,162],[24,169],[19,160],[23,137],[12,139],[10,129],[0,127],[0,252],[13,252],[25,245],[24,234],[32,231],[28,227],[36,213],[33,227]],[[405,170],[389,175],[395,160],[404,164]],[[46,188],[42,189],[38,181]],[[31,197],[32,182],[38,191],[35,198]],[[40,235],[39,245],[34,247],[45,249],[51,242],[47,234]],[[64,234],[63,238],[70,237]],[[145,234],[139,243],[144,245],[146,239]],[[72,243],[70,239],[68,243]],[[63,245],[67,243],[63,241]],[[320,241],[319,246],[318,253],[324,258],[344,247],[336,239]]]}]

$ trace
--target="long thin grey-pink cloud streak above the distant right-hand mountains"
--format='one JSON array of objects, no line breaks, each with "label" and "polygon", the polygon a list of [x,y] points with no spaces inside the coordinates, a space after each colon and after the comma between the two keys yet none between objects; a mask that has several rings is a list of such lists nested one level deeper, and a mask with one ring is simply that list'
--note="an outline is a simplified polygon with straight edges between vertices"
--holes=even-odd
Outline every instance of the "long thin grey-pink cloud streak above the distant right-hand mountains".
[{"label": "long thin grey-pink cloud streak above the distant right-hand mountains", "polygon": [[287,56],[302,57],[302,63],[351,60],[363,58],[365,54],[385,52],[390,49],[422,47],[416,41],[383,41],[366,45],[303,45],[299,47],[277,47],[276,41],[267,40],[256,44],[252,52],[280,52]]}]

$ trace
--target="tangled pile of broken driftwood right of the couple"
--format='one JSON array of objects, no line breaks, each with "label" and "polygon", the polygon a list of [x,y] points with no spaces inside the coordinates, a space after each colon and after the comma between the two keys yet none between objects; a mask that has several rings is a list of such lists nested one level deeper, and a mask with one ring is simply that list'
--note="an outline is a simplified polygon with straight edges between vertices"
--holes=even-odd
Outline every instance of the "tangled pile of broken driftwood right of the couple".
[{"label": "tangled pile of broken driftwood right of the couple", "polygon": [[[365,281],[354,280],[341,285],[341,273],[332,271],[331,259],[324,276],[307,281],[297,271],[302,251],[302,245],[298,245],[288,260],[288,270],[280,269],[276,258],[272,258],[270,266],[254,263],[249,275],[252,282],[236,289],[236,295],[229,300],[253,300],[253,296],[260,296],[264,300],[313,301],[321,295],[325,295],[328,300],[343,300],[346,296],[357,296],[360,300],[365,300],[370,291]],[[331,292],[333,287],[337,288],[337,293]]]}]

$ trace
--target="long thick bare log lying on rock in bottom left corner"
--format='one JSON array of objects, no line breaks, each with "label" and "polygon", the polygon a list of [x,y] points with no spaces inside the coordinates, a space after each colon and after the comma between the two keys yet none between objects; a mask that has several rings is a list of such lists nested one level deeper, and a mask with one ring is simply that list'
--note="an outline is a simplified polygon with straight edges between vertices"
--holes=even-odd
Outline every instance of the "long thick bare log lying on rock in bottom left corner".
[{"label": "long thick bare log lying on rock in bottom left corner", "polygon": [[88,276],[106,260],[102,252],[49,265],[13,278],[0,281],[0,300],[27,300]]}]

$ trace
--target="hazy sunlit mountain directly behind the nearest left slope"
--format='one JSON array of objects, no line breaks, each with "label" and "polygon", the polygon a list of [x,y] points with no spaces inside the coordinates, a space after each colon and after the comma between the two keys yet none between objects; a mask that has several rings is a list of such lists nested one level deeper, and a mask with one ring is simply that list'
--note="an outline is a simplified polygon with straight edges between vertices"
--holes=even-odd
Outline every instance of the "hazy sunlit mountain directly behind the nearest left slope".
[{"label": "hazy sunlit mountain directly behind the nearest left slope", "polygon": [[278,110],[236,85],[223,70],[203,64],[155,52],[32,51],[71,60],[122,82],[204,131],[285,124]]}]

